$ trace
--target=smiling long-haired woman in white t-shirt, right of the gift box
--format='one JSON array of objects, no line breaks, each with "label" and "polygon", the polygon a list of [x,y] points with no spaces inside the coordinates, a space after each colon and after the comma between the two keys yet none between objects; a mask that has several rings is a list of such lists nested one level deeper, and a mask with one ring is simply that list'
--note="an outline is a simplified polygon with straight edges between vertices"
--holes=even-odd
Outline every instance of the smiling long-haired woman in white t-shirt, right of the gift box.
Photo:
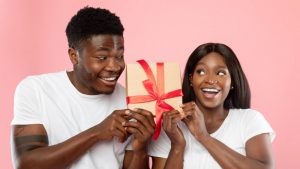
[{"label": "smiling long-haired woman in white t-shirt, right of the gift box", "polygon": [[197,47],[182,88],[181,110],[164,113],[165,133],[149,146],[154,169],[275,167],[275,133],[261,113],[249,108],[247,78],[228,46]]}]

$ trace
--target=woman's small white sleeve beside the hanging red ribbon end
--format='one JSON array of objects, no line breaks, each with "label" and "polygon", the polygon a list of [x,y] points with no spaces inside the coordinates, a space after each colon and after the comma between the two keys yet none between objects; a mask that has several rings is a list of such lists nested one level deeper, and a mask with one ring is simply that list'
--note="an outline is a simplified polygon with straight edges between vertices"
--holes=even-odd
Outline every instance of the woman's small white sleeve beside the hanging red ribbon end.
[{"label": "woman's small white sleeve beside the hanging red ribbon end", "polygon": [[162,129],[157,140],[151,140],[148,147],[148,154],[152,157],[168,158],[171,150],[171,141],[165,131]]}]

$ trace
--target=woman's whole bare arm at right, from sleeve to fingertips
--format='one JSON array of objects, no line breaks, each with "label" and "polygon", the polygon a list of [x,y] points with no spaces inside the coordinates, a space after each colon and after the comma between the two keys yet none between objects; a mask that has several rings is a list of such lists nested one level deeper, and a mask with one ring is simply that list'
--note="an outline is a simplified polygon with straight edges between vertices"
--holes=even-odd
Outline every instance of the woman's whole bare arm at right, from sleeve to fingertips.
[{"label": "woman's whole bare arm at right, from sleeve to fingertips", "polygon": [[269,134],[260,134],[246,142],[246,156],[232,150],[219,140],[211,137],[206,129],[203,113],[195,103],[185,104],[189,118],[183,121],[193,136],[207,149],[224,169],[272,169],[274,159]]}]

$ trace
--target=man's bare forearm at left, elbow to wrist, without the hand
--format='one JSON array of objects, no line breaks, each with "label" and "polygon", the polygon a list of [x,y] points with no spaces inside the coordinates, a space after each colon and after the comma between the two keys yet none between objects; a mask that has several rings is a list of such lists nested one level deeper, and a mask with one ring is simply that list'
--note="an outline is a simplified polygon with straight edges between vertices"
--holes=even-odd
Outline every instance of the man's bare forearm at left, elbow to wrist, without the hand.
[{"label": "man's bare forearm at left, elbow to wrist, without the hand", "polygon": [[88,129],[62,143],[26,151],[19,156],[19,169],[64,169],[98,142]]}]

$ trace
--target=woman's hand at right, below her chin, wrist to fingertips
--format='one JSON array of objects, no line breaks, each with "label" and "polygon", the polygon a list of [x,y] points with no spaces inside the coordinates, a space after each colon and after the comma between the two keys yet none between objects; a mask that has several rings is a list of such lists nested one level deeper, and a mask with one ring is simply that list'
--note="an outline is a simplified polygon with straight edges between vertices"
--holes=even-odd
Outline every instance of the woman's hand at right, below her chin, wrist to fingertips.
[{"label": "woman's hand at right, below her chin, wrist to fingertips", "polygon": [[182,114],[185,116],[183,122],[186,124],[193,136],[201,142],[208,136],[203,113],[195,102],[188,102],[181,106]]}]

